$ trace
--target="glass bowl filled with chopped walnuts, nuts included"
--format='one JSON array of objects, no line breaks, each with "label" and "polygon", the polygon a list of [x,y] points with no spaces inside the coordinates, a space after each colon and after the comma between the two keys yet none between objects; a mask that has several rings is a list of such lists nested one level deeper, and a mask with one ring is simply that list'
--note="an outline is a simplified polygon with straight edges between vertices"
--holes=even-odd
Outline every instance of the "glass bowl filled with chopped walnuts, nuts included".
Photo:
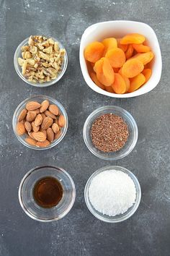
[{"label": "glass bowl filled with chopped walnuts, nuts included", "polygon": [[68,57],[66,49],[55,38],[31,35],[19,44],[14,67],[19,77],[30,85],[47,87],[63,77]]}]

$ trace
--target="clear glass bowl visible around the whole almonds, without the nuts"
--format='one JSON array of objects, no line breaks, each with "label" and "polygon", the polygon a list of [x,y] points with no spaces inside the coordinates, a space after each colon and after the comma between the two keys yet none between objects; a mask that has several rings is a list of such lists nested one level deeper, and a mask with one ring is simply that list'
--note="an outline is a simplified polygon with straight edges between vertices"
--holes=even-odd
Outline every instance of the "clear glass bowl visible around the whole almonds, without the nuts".
[{"label": "clear glass bowl visible around the whole almonds, without the nuts", "polygon": [[[45,101],[45,100],[48,100],[50,102],[50,104],[55,104],[55,105],[58,106],[61,114],[66,119],[66,125],[65,125],[65,127],[63,127],[61,129],[62,134],[61,134],[61,137],[58,138],[58,140],[54,140],[52,143],[50,143],[50,145],[48,147],[40,148],[40,147],[36,147],[36,146],[28,144],[24,140],[27,136],[25,134],[22,135],[22,136],[19,136],[17,134],[16,127],[17,127],[18,116],[19,116],[20,112],[22,111],[22,109],[25,108],[25,106],[28,102],[37,101],[37,102],[41,103],[42,101]],[[66,135],[66,132],[67,132],[67,129],[68,129],[68,116],[67,116],[65,108],[61,105],[61,103],[59,103],[54,98],[51,98],[50,96],[45,96],[45,95],[35,95],[35,96],[32,96],[32,97],[27,98],[26,100],[22,101],[22,103],[20,103],[19,106],[17,106],[16,110],[14,111],[14,115],[13,115],[13,119],[12,119],[12,127],[13,127],[14,134],[16,135],[17,139],[20,142],[22,142],[22,144],[24,146],[26,146],[27,148],[35,149],[35,150],[45,150],[45,149],[48,149],[48,148],[53,148],[55,145],[57,145],[59,142],[61,142],[61,140],[63,140],[63,137]]]}]

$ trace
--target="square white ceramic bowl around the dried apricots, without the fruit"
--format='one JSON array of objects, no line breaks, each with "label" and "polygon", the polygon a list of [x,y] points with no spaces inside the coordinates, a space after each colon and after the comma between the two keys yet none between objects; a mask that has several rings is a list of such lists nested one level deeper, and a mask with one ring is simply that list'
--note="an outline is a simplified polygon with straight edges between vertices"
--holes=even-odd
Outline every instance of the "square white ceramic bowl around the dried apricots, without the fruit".
[{"label": "square white ceramic bowl around the dried apricots, without the fruit", "polygon": [[[115,37],[121,38],[123,35],[128,33],[139,33],[146,37],[146,43],[148,46],[151,47],[153,54],[155,55],[153,61],[151,61],[151,69],[152,75],[151,78],[143,85],[141,88],[136,90],[133,93],[125,93],[125,94],[116,94],[116,93],[109,93],[105,90],[102,90],[89,77],[89,72],[86,67],[86,61],[84,59],[84,48],[91,42],[95,40],[103,40],[104,38],[108,37]],[[97,93],[101,93],[103,95],[107,95],[112,98],[130,98],[135,97],[138,95],[142,95],[144,93],[148,93],[150,90],[158,85],[158,82],[161,78],[161,69],[162,69],[162,60],[161,60],[161,50],[158,44],[158,38],[156,37],[156,33],[153,29],[147,25],[146,23],[142,22],[134,22],[128,20],[115,20],[115,21],[108,21],[108,22],[100,22],[90,27],[87,27],[84,31],[84,34],[81,37],[81,44],[80,44],[80,65],[81,65],[81,72],[84,76],[84,80],[86,81],[87,85]]]}]

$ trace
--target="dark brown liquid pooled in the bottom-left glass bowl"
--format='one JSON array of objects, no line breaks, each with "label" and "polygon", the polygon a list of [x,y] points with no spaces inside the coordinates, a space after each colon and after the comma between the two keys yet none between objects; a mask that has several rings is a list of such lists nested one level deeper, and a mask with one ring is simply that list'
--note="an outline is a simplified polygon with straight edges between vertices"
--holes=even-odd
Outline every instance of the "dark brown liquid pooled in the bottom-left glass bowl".
[{"label": "dark brown liquid pooled in the bottom-left glass bowl", "polygon": [[41,207],[52,208],[58,205],[63,197],[63,188],[57,179],[44,177],[35,184],[33,196]]}]

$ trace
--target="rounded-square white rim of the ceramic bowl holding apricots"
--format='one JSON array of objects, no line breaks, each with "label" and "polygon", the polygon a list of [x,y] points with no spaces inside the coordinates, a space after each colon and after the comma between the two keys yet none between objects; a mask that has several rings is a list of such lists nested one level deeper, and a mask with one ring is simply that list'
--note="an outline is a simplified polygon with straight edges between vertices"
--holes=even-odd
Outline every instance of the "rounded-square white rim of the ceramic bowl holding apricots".
[{"label": "rounded-square white rim of the ceramic bowl holding apricots", "polygon": [[[146,85],[148,83],[150,83],[151,81],[148,80],[148,82],[146,82],[146,84],[145,84],[145,88],[147,88],[146,91],[144,91],[143,87],[141,87],[138,90],[135,90],[135,92],[133,92],[133,93],[124,93],[124,94],[109,93],[105,90],[102,90],[97,85],[95,85],[95,83],[89,77],[89,73],[86,74],[86,67],[84,67],[85,66],[85,64],[84,64],[84,61],[85,61],[85,59],[84,59],[84,46],[82,46],[82,44],[84,43],[84,39],[88,36],[86,34],[89,33],[89,30],[92,30],[92,29],[98,27],[99,25],[104,25],[104,24],[108,24],[108,23],[113,24],[113,25],[115,25],[116,23],[117,24],[119,24],[119,23],[128,24],[129,23],[130,26],[132,26],[133,24],[138,24],[138,25],[140,25],[140,27],[145,26],[149,30],[151,30],[151,33],[153,35],[153,40],[155,40],[155,42],[156,42],[156,48],[157,48],[156,57],[157,57],[158,62],[159,62],[159,68],[158,68],[159,74],[157,72],[158,77],[157,77],[155,82],[153,81],[151,83],[151,85],[152,84],[153,85],[150,86],[149,88],[148,88],[148,86],[146,87]],[[79,48],[79,62],[80,62],[81,72],[83,74],[84,80],[85,80],[86,84],[89,86],[89,88],[91,88],[91,90],[94,90],[96,93],[106,95],[106,96],[109,96],[111,98],[132,98],[132,97],[143,95],[143,94],[148,93],[151,90],[153,90],[156,87],[156,85],[158,85],[158,82],[161,79],[162,59],[161,59],[161,49],[160,49],[160,46],[159,46],[159,43],[158,43],[158,38],[157,38],[156,33],[153,30],[153,28],[150,25],[148,25],[144,22],[136,22],[136,21],[131,21],[131,20],[109,20],[109,21],[105,21],[105,22],[97,22],[97,23],[94,23],[93,25],[90,25],[89,27],[86,28],[86,30],[84,30],[84,33],[81,36],[81,43],[80,43],[80,48]]]}]

